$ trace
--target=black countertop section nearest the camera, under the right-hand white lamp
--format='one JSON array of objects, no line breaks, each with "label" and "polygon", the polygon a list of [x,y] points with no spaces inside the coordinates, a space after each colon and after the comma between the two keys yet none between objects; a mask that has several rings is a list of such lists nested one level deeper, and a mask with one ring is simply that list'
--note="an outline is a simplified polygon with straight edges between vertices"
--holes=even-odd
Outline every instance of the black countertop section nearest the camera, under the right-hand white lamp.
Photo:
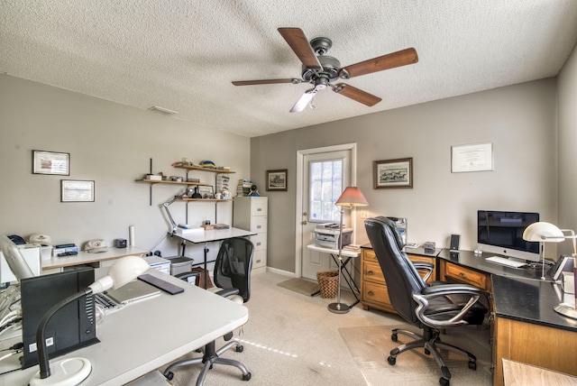
[{"label": "black countertop section nearest the camera, under the right-hand white lamp", "polygon": [[498,317],[577,332],[577,319],[553,309],[563,299],[560,284],[499,275],[491,275],[491,281]]}]

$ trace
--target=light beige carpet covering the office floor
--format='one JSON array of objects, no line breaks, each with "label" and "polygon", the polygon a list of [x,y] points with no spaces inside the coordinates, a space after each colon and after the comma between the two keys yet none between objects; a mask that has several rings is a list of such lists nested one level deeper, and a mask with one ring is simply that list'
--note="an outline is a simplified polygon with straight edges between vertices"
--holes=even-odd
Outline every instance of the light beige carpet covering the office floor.
[{"label": "light beige carpet covering the office floor", "polygon": [[[289,283],[292,289],[285,288]],[[438,385],[440,374],[435,360],[423,354],[404,353],[398,356],[395,366],[387,363],[388,353],[395,346],[390,341],[390,329],[403,323],[400,317],[365,311],[361,305],[347,314],[334,314],[327,309],[334,299],[310,296],[316,289],[313,280],[287,280],[286,276],[270,272],[253,275],[251,299],[246,303],[249,321],[242,331],[235,332],[244,351],[223,354],[244,363],[252,379],[242,381],[238,369],[215,364],[205,386]],[[348,290],[342,291],[342,299],[346,304],[354,301]],[[490,385],[489,331],[463,332],[469,333],[474,336],[473,346],[465,348],[479,358],[478,369],[469,370],[466,360],[449,360],[451,385]],[[404,342],[403,339],[408,338],[398,336],[399,341]],[[447,342],[453,339],[461,345],[469,341],[469,336],[463,339],[453,332],[443,336]],[[223,344],[219,339],[217,347]],[[172,382],[177,386],[194,385],[199,370],[197,365],[179,368]]]}]

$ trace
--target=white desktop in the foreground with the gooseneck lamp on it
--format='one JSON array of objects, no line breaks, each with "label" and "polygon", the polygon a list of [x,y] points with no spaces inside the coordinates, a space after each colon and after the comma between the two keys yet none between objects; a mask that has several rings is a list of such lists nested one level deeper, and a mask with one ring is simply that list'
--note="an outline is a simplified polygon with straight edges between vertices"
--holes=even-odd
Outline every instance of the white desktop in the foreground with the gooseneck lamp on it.
[{"label": "white desktop in the foreground with the gooseneck lamp on it", "polygon": [[[80,356],[92,363],[82,386],[120,385],[162,367],[218,337],[243,326],[248,309],[212,292],[187,284],[156,270],[154,276],[171,281],[185,291],[130,304],[108,314],[97,326],[100,343],[62,358]],[[17,361],[17,358],[15,358]],[[0,376],[0,385],[26,385],[38,366]]]}]

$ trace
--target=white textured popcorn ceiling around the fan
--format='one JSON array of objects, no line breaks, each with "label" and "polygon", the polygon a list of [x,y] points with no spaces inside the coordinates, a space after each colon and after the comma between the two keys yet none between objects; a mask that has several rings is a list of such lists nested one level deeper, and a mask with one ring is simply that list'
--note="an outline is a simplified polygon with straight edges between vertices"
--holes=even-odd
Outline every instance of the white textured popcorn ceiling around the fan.
[{"label": "white textured popcorn ceiling around the fan", "polygon": [[[333,41],[347,66],[414,47],[417,64],[343,83],[289,113],[308,84],[277,28]],[[577,41],[574,0],[2,0],[0,72],[252,137],[554,77]],[[151,113],[152,114],[152,113]]]}]

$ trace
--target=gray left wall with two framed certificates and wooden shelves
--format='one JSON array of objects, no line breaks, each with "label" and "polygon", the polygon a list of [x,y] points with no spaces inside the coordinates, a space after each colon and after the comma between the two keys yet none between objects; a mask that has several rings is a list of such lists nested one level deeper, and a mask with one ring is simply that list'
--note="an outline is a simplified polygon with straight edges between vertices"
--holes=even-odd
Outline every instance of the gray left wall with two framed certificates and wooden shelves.
[{"label": "gray left wall with two framed certificates and wooden shelves", "polygon": [[[53,243],[83,244],[89,239],[128,239],[135,226],[136,245],[150,249],[169,230],[159,205],[184,190],[155,185],[152,206],[149,185],[135,182],[150,170],[184,177],[170,165],[215,161],[229,166],[231,190],[250,174],[250,141],[238,135],[206,131],[195,124],[158,113],[88,97],[32,81],[0,75],[0,234],[48,234]],[[32,150],[69,152],[70,175],[32,174]],[[214,183],[214,173],[192,172]],[[96,183],[94,203],[60,203],[60,179]],[[186,205],[175,202],[170,212],[184,223]],[[218,204],[218,221],[232,224],[232,202]],[[188,204],[188,223],[215,221],[215,204]],[[176,240],[154,249],[163,256],[177,253]],[[200,257],[201,247],[188,248]],[[213,251],[211,251],[213,253]]]}]

